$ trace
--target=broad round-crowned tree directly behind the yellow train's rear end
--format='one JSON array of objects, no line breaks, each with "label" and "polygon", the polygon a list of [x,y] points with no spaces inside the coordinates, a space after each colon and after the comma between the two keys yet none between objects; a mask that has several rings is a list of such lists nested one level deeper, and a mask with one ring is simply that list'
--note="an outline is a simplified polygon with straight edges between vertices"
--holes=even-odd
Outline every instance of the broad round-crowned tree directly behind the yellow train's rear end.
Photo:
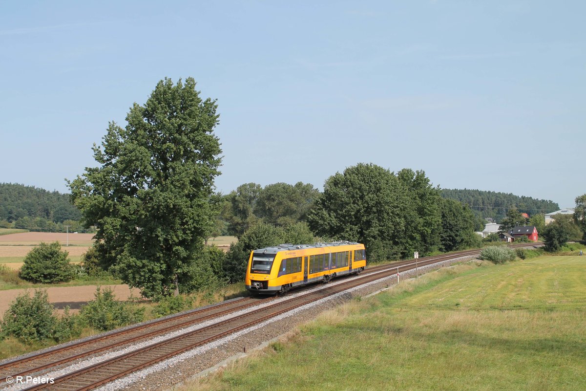
[{"label": "broad round-crowned tree directly behind the yellow train's rear end", "polygon": [[307,219],[320,236],[364,243],[374,261],[413,251],[406,232],[413,213],[408,190],[393,172],[360,163],[326,180]]}]

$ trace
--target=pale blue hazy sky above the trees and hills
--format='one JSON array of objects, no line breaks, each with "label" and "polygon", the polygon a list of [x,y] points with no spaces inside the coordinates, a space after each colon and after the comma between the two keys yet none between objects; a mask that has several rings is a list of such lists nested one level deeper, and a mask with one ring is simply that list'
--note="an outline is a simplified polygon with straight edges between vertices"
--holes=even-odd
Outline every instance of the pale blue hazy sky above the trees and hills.
[{"label": "pale blue hazy sky above the trees and hills", "polygon": [[217,99],[217,191],[359,162],[574,206],[583,1],[1,1],[0,182],[68,192],[164,77]]}]

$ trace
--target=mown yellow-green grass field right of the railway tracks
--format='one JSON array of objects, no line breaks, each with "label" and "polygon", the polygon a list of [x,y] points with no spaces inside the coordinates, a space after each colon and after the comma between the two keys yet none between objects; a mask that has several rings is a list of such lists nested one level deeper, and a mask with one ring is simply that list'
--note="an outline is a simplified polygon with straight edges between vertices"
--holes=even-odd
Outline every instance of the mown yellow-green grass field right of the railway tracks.
[{"label": "mown yellow-green grass field right of the railway tracks", "polygon": [[180,389],[586,389],[586,256],[478,265],[350,302]]}]

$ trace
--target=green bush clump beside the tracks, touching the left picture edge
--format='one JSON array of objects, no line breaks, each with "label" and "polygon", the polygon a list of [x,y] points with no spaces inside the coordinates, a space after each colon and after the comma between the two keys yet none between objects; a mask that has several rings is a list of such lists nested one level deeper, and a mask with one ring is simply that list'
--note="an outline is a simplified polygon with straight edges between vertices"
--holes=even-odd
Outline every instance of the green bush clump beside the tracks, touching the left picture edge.
[{"label": "green bush clump beside the tracks, touching the left picture edge", "polygon": [[0,335],[15,336],[31,344],[45,339],[60,342],[80,334],[78,317],[70,316],[66,309],[63,317],[58,318],[47,291],[38,289],[32,297],[28,293],[16,297],[4,314]]}]

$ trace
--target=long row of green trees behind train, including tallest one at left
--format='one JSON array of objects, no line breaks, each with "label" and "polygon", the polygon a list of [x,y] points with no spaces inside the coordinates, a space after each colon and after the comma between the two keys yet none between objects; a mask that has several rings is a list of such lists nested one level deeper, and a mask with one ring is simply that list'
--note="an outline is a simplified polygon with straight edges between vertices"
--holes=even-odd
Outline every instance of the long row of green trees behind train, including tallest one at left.
[{"label": "long row of green trees behind train, including tallest one at left", "polygon": [[[93,148],[97,166],[68,182],[85,225],[97,227],[101,266],[145,296],[241,280],[250,250],[314,236],[362,242],[370,260],[478,244],[471,210],[443,199],[423,171],[358,164],[331,176],[323,193],[302,182],[214,193],[219,115],[195,87],[192,78],[159,81],[124,128],[110,123]],[[205,246],[220,233],[239,238],[225,255]]]}]

